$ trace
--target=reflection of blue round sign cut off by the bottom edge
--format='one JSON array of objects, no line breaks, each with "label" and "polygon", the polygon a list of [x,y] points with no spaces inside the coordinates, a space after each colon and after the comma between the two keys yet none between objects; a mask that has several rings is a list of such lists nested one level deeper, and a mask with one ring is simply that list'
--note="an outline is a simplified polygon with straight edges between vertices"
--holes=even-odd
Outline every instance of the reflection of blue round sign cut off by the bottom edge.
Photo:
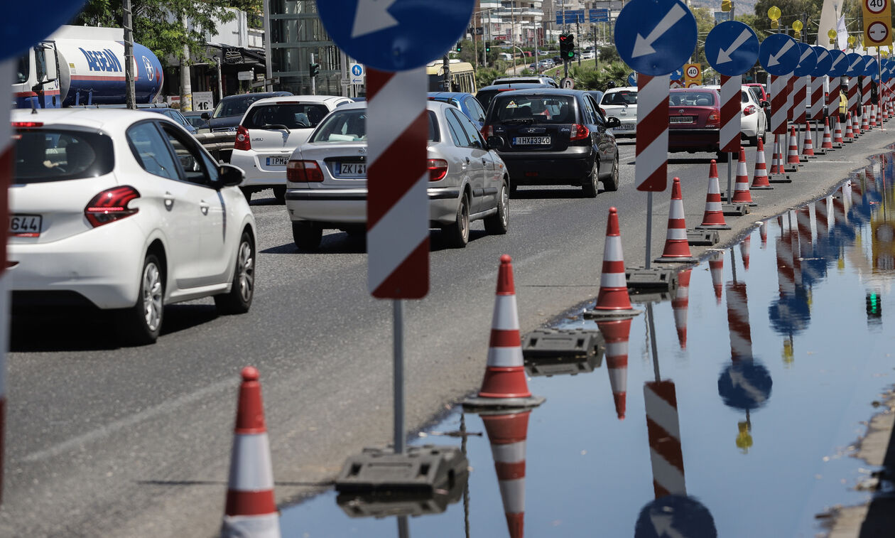
[{"label": "reflection of blue round sign cut off by the bottom edge", "polygon": [[640,510],[634,538],[717,538],[708,508],[693,497],[666,495]]}]

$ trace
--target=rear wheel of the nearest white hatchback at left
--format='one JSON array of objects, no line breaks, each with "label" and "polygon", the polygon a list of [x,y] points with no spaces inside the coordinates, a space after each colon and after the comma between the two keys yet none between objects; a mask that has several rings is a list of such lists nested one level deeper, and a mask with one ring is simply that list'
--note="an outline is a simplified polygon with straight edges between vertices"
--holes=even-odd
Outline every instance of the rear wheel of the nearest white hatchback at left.
[{"label": "rear wheel of the nearest white hatchback at left", "polygon": [[147,254],[140,273],[137,303],[115,316],[124,345],[155,344],[161,333],[165,313],[165,281],[161,263],[155,254]]}]

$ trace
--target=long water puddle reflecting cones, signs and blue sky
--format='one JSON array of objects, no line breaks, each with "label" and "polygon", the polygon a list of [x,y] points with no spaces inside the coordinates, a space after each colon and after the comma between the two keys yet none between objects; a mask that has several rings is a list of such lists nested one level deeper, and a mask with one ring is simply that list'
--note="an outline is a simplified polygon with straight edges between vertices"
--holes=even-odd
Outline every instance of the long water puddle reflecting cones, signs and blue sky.
[{"label": "long water puddle reflecting cones, signs and blue sky", "polygon": [[557,327],[600,329],[605,353],[530,369],[546,403],[456,407],[411,441],[462,448],[468,477],[431,500],[329,491],[284,509],[284,536],[821,532],[816,514],[867,499],[851,443],[895,381],[891,182],[891,156],[875,158],[683,271],[670,300],[637,304],[652,315],[570,312]]}]

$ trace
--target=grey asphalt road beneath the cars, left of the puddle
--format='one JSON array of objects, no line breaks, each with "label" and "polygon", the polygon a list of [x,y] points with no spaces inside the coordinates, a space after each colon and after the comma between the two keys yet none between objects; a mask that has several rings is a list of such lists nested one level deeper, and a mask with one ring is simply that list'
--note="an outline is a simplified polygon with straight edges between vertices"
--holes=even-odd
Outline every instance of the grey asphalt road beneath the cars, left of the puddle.
[{"label": "grey asphalt road beneath the cars, left of the puddle", "polygon": [[[872,132],[807,164],[793,184],[753,192],[760,205],[729,217],[734,229],[722,243],[827,192],[890,142]],[[523,187],[507,235],[485,235],[476,223],[469,245],[450,250],[432,233],[430,294],[406,304],[408,431],[478,389],[500,254],[514,259],[523,331],[597,295],[610,206],[619,209],[626,265],[644,264],[647,195],[634,188],[634,151],[623,142],[618,192],[585,199],[577,188]],[[747,154],[751,163],[754,149]],[[703,216],[709,158],[669,162],[690,227]],[[391,440],[392,305],[366,291],[363,243],[331,233],[319,253],[298,253],[286,210],[265,196],[252,201],[260,255],[248,314],[217,317],[210,301],[174,305],[158,343],[140,348],[115,346],[102,318],[13,320],[0,535],[216,534],[246,364],[261,373],[279,503],[312,494],[345,457]],[[664,243],[669,192],[654,198],[652,257]]]}]

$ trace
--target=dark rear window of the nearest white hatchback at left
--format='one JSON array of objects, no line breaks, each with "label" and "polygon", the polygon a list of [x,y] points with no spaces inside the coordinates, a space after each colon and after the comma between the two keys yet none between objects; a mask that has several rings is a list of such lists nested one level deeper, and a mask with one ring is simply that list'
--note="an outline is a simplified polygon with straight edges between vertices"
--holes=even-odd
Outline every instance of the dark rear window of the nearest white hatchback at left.
[{"label": "dark rear window of the nearest white hatchback at left", "polygon": [[16,184],[97,177],[115,167],[112,139],[98,132],[21,129],[13,140]]}]

